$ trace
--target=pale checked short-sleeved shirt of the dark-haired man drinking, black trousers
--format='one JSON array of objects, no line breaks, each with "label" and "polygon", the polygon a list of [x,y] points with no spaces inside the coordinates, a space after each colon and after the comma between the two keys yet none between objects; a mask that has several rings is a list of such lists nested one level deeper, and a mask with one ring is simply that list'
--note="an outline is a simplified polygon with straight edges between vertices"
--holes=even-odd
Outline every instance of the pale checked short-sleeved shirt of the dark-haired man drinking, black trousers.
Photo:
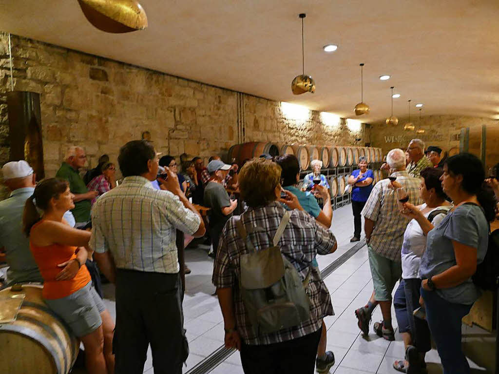
[{"label": "pale checked short-sleeved shirt of the dark-haired man drinking, black trousers", "polygon": [[111,251],[118,269],[178,273],[175,230],[192,235],[200,224],[171,192],[155,190],[141,176],[126,177],[94,204],[90,247]]}]

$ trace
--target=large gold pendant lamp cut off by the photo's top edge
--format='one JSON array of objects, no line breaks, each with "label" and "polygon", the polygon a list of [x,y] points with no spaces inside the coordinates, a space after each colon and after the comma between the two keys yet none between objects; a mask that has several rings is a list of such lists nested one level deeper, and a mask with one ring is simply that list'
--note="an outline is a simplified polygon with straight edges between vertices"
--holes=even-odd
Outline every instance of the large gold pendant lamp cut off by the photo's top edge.
[{"label": "large gold pendant lamp cut off by the photo's top edge", "polygon": [[147,15],[136,0],[78,0],[83,14],[99,30],[123,33],[147,27]]}]

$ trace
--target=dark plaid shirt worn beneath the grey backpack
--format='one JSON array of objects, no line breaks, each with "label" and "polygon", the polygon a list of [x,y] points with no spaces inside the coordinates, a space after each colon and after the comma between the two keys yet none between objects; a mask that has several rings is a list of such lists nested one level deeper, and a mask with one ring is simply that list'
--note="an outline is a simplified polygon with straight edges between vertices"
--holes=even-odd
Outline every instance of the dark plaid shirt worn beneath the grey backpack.
[{"label": "dark plaid shirt worn beneath the grey backpack", "polygon": [[[255,248],[272,246],[271,238],[284,216],[284,208],[279,203],[271,203],[260,208],[249,208],[241,215],[241,222],[248,228],[261,227],[264,231],[249,234]],[[213,284],[217,288],[232,288],[236,326],[241,338],[249,345],[266,345],[284,342],[311,334],[320,329],[324,316],[334,315],[331,297],[317,268],[311,262],[317,253],[328,254],[336,243],[334,235],[319,226],[315,219],[304,211],[294,210],[278,245],[281,253],[294,265],[305,279],[310,269],[309,298],[310,319],[289,329],[272,334],[256,335],[241,298],[239,279],[241,278],[241,255],[248,250],[238,234],[235,218],[231,218],[222,231]]]}]

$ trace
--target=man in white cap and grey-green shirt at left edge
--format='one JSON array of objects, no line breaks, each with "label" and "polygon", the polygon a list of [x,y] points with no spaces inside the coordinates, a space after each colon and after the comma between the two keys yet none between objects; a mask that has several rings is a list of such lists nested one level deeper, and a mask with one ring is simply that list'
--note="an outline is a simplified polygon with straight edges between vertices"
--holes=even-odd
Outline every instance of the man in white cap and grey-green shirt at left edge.
[{"label": "man in white cap and grey-green shirt at left edge", "polygon": [[[35,174],[24,160],[7,162],[2,174],[3,183],[10,190],[10,197],[0,201],[0,252],[9,266],[7,285],[43,282],[29,250],[29,239],[22,232],[24,203],[33,194]],[[71,212],[66,212],[64,218],[74,225]]]}]

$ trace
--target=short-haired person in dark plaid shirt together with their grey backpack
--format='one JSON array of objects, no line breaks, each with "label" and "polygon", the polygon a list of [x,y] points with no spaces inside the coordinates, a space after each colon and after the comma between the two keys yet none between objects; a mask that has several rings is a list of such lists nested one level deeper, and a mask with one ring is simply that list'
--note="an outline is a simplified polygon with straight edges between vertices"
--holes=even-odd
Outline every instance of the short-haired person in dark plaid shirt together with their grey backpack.
[{"label": "short-haired person in dark plaid shirt together with their grey backpack", "polygon": [[[227,222],[215,259],[225,346],[241,351],[246,374],[313,373],[322,318],[334,314],[311,264],[317,253],[334,252],[336,239],[299,210],[280,178],[270,160],[243,166],[239,185],[248,210]],[[297,209],[286,211],[279,202]]]}]

